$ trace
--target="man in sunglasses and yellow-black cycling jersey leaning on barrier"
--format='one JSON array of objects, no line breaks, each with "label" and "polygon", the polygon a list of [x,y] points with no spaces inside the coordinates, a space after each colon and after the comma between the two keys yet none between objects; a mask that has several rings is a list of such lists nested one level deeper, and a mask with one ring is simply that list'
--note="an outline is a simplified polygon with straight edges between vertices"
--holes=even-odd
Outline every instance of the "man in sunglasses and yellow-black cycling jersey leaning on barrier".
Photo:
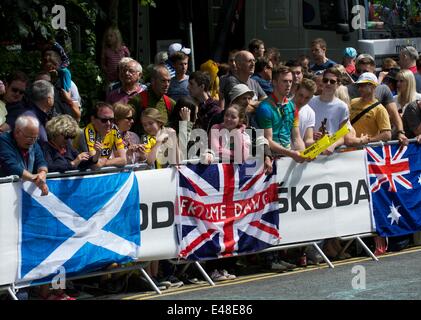
[{"label": "man in sunglasses and yellow-black cycling jersey leaning on barrier", "polygon": [[92,110],[91,122],[75,138],[74,147],[89,152],[99,160],[96,168],[122,167],[127,164],[126,150],[121,134],[114,124],[114,110],[105,102],[98,102]]}]

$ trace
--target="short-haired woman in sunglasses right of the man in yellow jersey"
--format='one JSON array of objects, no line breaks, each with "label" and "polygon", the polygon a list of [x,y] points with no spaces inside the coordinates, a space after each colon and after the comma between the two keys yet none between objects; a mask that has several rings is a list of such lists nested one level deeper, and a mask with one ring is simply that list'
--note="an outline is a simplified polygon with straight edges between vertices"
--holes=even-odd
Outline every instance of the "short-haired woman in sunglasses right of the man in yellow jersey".
[{"label": "short-haired woman in sunglasses right of the man in yellow jersey", "polygon": [[115,103],[115,124],[120,130],[123,144],[126,149],[128,164],[144,162],[146,160],[145,147],[141,144],[139,136],[130,131],[135,119],[135,110],[130,104]]}]

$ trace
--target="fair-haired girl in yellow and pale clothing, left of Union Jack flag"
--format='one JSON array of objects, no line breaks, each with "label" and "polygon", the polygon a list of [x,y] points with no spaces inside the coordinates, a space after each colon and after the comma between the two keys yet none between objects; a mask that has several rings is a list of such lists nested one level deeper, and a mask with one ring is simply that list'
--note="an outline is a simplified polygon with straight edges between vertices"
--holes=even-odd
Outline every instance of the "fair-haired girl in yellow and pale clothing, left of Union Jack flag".
[{"label": "fair-haired girl in yellow and pale clothing, left of Union Jack flag", "polygon": [[177,135],[174,129],[164,127],[165,120],[158,109],[147,108],[142,112],[141,123],[146,135],[141,143],[145,145],[146,162],[156,169],[179,162]]}]

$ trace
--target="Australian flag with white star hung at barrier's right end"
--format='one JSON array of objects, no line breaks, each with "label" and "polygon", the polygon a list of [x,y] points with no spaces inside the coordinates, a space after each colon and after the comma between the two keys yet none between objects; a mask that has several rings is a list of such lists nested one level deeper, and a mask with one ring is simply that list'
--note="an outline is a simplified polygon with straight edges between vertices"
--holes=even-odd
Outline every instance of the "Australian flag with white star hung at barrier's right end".
[{"label": "Australian flag with white star hung at barrier's right end", "polygon": [[399,236],[421,230],[421,147],[366,148],[376,231]]}]

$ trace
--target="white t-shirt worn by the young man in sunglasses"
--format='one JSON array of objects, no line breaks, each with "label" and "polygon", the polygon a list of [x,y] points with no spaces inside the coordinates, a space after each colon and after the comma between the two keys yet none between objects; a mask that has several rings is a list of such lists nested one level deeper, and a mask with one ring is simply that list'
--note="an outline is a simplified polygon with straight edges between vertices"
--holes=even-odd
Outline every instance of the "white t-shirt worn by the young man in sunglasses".
[{"label": "white t-shirt worn by the young man in sunglasses", "polygon": [[316,115],[314,131],[318,131],[322,121],[327,119],[326,128],[329,134],[333,134],[340,129],[342,122],[349,119],[348,106],[336,97],[330,102],[324,102],[320,100],[320,96],[317,96],[313,97],[308,104]]}]

